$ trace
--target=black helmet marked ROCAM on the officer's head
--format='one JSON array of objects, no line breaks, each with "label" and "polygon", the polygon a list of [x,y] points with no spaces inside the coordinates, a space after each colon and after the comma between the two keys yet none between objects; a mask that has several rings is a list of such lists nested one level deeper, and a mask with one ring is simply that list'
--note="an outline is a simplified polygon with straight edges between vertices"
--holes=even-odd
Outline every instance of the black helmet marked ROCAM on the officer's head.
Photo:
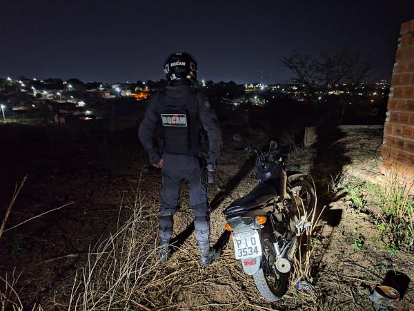
[{"label": "black helmet marked ROCAM on the officer's head", "polygon": [[197,77],[197,62],[188,53],[177,52],[166,60],[164,73],[168,82],[176,79],[190,79],[195,81]]}]

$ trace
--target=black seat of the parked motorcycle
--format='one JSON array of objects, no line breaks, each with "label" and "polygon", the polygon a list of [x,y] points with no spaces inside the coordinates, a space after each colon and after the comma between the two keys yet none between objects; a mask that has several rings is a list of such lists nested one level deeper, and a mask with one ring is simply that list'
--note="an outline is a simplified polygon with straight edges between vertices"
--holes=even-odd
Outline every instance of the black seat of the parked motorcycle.
[{"label": "black seat of the parked motorcycle", "polygon": [[277,191],[272,186],[264,183],[257,185],[249,194],[234,200],[223,213],[228,216],[239,211],[248,211],[264,207],[270,200],[277,198]]}]

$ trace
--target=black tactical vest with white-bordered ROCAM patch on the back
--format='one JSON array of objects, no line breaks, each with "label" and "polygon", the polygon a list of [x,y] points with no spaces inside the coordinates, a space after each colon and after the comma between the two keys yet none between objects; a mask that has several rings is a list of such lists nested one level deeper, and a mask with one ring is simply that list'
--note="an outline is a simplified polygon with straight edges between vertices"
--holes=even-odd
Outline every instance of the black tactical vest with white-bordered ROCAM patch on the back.
[{"label": "black tactical vest with white-bordered ROCAM patch on the back", "polygon": [[163,130],[164,152],[201,156],[203,128],[199,119],[199,91],[188,88],[180,97],[168,90],[158,94],[157,113]]}]

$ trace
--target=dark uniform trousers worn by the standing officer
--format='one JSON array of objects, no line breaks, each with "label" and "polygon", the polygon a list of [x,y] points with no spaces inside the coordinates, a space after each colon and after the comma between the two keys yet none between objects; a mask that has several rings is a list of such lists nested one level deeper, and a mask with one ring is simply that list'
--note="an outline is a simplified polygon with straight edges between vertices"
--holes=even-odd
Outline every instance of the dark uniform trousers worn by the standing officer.
[{"label": "dark uniform trousers worn by the standing officer", "polygon": [[170,241],[172,216],[177,211],[179,204],[181,182],[187,182],[197,241],[208,241],[210,238],[210,207],[208,206],[208,191],[203,178],[204,172],[199,158],[184,154],[165,153],[163,160],[159,238]]}]

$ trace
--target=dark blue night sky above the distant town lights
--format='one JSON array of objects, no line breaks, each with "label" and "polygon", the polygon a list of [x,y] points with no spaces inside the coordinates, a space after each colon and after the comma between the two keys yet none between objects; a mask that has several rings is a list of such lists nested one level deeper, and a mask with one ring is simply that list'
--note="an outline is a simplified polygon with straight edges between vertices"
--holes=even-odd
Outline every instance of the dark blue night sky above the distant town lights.
[{"label": "dark blue night sky above the distant town lights", "polygon": [[347,46],[389,79],[414,0],[0,0],[0,77],[158,80],[176,50],[199,79],[286,82],[279,59]]}]

